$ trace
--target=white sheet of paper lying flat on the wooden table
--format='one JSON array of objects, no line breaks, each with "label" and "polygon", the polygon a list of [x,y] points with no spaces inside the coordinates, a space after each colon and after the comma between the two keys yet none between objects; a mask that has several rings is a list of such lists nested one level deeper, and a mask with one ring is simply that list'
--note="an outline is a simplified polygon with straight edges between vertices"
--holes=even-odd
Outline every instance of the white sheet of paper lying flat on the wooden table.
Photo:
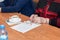
[{"label": "white sheet of paper lying flat on the wooden table", "polygon": [[41,24],[35,24],[35,23],[26,23],[26,22],[23,22],[21,24],[18,24],[18,25],[15,25],[15,26],[12,26],[11,28],[16,30],[16,31],[19,31],[19,32],[22,32],[22,33],[25,33],[25,32],[28,32],[36,27],[39,27]]}]

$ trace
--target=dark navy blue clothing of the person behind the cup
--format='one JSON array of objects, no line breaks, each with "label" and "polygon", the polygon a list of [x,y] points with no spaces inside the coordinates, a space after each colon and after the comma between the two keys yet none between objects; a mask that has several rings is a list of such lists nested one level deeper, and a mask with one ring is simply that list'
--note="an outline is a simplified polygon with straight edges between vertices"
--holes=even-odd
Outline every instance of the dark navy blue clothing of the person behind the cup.
[{"label": "dark navy blue clothing of the person behind the cup", "polygon": [[34,13],[32,0],[5,0],[3,3],[6,7],[2,7],[2,12],[21,12],[26,16]]}]

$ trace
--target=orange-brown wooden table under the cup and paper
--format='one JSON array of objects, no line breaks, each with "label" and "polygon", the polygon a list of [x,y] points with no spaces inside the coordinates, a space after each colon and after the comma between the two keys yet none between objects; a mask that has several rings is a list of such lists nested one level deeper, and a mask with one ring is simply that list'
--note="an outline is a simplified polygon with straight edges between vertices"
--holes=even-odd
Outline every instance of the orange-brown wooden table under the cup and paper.
[{"label": "orange-brown wooden table under the cup and paper", "polygon": [[0,13],[0,24],[4,24],[6,26],[9,40],[60,40],[60,29],[48,24],[42,24],[41,26],[24,34],[12,30],[10,26],[5,23],[5,20],[12,15],[20,16],[23,21],[28,20],[29,18],[18,13]]}]

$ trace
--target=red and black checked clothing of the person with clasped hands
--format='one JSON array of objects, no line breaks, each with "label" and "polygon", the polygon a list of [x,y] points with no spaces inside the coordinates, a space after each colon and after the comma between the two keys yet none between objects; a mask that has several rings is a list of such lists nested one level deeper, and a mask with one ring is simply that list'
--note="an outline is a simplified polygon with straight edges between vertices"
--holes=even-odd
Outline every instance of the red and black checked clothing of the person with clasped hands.
[{"label": "red and black checked clothing of the person with clasped hands", "polygon": [[[44,2],[43,2],[44,1]],[[60,28],[60,3],[52,2],[48,4],[47,1],[40,1],[36,12],[39,16],[49,18],[49,24]],[[43,3],[43,5],[41,4]],[[41,7],[42,5],[42,7]]]}]

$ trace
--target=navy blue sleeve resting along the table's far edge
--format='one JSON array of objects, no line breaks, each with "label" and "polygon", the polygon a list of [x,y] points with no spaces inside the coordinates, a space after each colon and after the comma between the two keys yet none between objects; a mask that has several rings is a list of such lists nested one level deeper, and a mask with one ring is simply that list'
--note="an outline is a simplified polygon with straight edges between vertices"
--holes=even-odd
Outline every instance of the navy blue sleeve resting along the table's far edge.
[{"label": "navy blue sleeve resting along the table's far edge", "polygon": [[28,3],[29,0],[18,0],[14,6],[2,7],[2,12],[17,12]]}]

